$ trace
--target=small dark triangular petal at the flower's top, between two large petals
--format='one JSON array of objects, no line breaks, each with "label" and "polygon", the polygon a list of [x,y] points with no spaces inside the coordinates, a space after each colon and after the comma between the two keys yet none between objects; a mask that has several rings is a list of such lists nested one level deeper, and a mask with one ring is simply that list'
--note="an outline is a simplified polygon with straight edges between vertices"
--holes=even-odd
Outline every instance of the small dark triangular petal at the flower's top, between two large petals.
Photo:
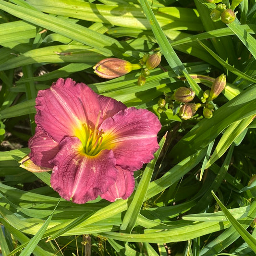
[{"label": "small dark triangular petal at the flower's top, between two large petals", "polygon": [[103,95],[98,95],[100,105],[103,110],[103,119],[112,117],[114,114],[118,113],[120,110],[125,110],[127,107],[121,102],[113,98],[106,97]]}]

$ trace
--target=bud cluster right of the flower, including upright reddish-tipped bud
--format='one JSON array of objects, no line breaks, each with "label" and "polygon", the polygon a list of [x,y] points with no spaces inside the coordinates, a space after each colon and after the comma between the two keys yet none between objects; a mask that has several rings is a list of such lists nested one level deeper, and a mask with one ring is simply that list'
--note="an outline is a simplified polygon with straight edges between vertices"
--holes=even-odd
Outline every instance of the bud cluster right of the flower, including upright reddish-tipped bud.
[{"label": "bud cluster right of the flower, including upright reddish-tipped bud", "polygon": [[[168,109],[173,110],[174,106],[179,106],[179,116],[188,120],[192,118],[196,111],[199,108],[203,108],[203,116],[205,118],[212,118],[214,105],[211,101],[219,96],[219,94],[223,91],[226,85],[226,76],[221,74],[217,77],[210,90],[206,90],[203,93],[203,97],[201,98],[202,103],[194,103],[192,102],[195,98],[195,92],[191,88],[187,87],[179,87],[174,93],[171,95],[165,95],[165,98],[160,98],[158,100],[158,112],[162,113]],[[167,107],[168,106],[168,107]]]}]

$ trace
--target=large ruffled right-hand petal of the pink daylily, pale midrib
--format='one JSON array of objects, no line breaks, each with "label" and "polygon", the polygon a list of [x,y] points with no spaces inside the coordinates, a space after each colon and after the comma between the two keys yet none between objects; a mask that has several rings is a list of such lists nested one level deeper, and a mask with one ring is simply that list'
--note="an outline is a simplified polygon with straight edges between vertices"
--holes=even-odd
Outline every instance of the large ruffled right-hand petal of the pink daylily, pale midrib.
[{"label": "large ruffled right-hand petal of the pink daylily, pale midrib", "polygon": [[128,108],[102,122],[99,129],[105,134],[122,169],[139,170],[154,158],[158,149],[157,134],[161,128],[157,116],[148,110]]}]

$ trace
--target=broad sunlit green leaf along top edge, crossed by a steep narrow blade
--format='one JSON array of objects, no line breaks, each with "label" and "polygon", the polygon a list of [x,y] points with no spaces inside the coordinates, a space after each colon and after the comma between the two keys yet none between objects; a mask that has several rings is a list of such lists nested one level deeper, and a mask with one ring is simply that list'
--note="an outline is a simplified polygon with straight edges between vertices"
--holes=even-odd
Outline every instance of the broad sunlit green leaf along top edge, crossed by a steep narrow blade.
[{"label": "broad sunlit green leaf along top edge, crossed by a steep narrow blade", "polygon": [[[91,22],[101,22],[114,26],[150,29],[144,13],[137,5],[95,4],[80,0],[27,0],[42,12],[72,17]],[[191,8],[165,7],[154,8],[161,27],[187,30],[202,30],[203,26],[195,10]],[[189,20],[189,22],[188,22]]]}]

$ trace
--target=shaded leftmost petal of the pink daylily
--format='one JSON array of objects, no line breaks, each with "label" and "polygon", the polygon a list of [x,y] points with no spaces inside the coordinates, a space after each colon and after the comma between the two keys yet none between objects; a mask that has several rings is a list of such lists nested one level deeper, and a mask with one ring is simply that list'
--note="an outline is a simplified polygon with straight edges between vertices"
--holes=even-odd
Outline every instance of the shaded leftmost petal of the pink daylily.
[{"label": "shaded leftmost petal of the pink daylily", "polygon": [[49,164],[49,160],[58,153],[59,143],[50,138],[45,131],[37,128],[35,135],[28,141],[28,147],[31,150],[29,158],[36,165],[53,168],[53,165]]}]

